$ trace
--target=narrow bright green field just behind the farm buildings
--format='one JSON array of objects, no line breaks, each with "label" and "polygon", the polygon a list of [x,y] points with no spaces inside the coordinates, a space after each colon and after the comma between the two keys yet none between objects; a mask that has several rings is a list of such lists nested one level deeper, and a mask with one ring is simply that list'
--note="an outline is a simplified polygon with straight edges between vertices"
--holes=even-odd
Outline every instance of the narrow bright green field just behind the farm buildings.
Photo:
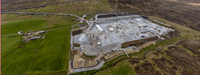
[{"label": "narrow bright green field just behind the farm buildings", "polygon": [[18,31],[28,32],[43,30],[46,25],[45,19],[27,19],[5,23],[1,26],[1,34],[17,34]]}]

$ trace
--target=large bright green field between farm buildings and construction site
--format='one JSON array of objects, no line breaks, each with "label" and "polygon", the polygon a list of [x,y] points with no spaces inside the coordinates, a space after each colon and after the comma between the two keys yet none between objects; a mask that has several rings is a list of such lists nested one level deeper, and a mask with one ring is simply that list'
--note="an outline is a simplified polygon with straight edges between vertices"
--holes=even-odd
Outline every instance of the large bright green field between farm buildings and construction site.
[{"label": "large bright green field between farm buildings and construction site", "polygon": [[[48,74],[68,69],[70,28],[49,31],[45,39],[19,42],[2,58],[2,74]],[[10,43],[7,41],[7,43]],[[21,46],[24,46],[22,48]]]}]

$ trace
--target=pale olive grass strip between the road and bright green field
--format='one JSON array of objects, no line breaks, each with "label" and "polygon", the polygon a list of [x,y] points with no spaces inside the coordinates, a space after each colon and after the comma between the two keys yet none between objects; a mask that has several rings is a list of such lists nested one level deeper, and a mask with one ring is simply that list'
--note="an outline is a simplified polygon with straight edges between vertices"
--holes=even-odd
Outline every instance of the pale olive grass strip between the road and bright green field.
[{"label": "pale olive grass strip between the road and bright green field", "polygon": [[2,25],[9,22],[15,22],[15,21],[17,22],[20,20],[27,20],[27,19],[44,19],[47,22],[46,25],[44,25],[44,28],[51,28],[55,26],[59,27],[77,23],[76,21],[71,21],[77,19],[76,17],[73,16],[2,14],[1,18],[2,18],[1,19]]}]

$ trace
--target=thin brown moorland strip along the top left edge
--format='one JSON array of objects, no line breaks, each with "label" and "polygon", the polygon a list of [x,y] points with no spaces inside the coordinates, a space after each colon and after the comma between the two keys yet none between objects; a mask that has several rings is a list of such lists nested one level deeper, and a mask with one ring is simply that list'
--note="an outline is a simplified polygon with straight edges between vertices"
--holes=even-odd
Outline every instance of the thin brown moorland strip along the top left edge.
[{"label": "thin brown moorland strip along the top left edge", "polygon": [[[69,3],[76,1],[85,1],[85,0],[2,0],[2,10],[12,10],[12,9],[29,9],[29,7],[39,7],[39,6],[48,6],[55,5],[59,3]],[[13,10],[12,10],[13,11]]]}]

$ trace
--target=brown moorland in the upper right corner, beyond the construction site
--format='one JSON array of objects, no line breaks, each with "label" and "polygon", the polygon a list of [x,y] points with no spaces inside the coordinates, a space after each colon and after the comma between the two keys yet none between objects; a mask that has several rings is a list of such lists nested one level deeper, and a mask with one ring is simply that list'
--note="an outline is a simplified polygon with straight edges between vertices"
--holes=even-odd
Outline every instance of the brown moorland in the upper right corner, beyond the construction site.
[{"label": "brown moorland in the upper right corner, beyond the construction site", "polygon": [[200,31],[200,0],[108,0],[118,12],[158,16]]}]

